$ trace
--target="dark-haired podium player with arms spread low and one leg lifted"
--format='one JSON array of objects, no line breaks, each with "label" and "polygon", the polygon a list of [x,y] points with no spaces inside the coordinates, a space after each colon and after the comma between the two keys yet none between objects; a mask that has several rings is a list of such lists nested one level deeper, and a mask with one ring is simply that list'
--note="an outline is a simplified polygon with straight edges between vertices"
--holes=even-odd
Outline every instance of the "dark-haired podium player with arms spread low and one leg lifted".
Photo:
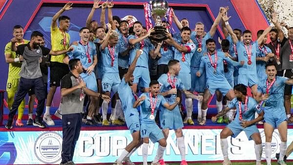
[{"label": "dark-haired podium player with arms spread low and one leg lifted", "polygon": [[216,42],[213,39],[208,39],[206,41],[206,46],[208,49],[207,55],[201,58],[200,68],[197,71],[196,76],[200,77],[203,73],[203,70],[206,70],[207,73],[207,83],[206,89],[204,92],[204,99],[202,103],[202,121],[200,125],[206,124],[206,116],[208,111],[208,102],[210,97],[215,93],[216,90],[221,92],[223,96],[227,97],[227,100],[231,101],[235,96],[232,87],[225,78],[224,73],[224,63],[223,60],[228,62],[233,66],[244,65],[244,61],[234,62],[230,58],[226,57],[227,55],[224,52],[216,51]]}]

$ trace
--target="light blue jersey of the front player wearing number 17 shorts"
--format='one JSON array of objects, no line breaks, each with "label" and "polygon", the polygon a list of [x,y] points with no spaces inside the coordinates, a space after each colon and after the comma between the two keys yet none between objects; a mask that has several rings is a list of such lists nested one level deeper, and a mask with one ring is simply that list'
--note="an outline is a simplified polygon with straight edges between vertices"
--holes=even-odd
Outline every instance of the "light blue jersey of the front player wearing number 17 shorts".
[{"label": "light blue jersey of the front player wearing number 17 shorts", "polygon": [[[149,116],[151,114],[151,106],[150,106],[150,98],[149,93],[142,93],[140,97],[146,96],[146,99],[141,102],[140,105],[140,120],[141,123],[144,124],[155,124],[155,120],[149,119]],[[155,98],[152,97],[152,103],[155,103]],[[156,117],[157,111],[159,110],[160,106],[163,106],[165,103],[167,103],[162,95],[157,95],[157,103],[154,109],[154,116]]]}]

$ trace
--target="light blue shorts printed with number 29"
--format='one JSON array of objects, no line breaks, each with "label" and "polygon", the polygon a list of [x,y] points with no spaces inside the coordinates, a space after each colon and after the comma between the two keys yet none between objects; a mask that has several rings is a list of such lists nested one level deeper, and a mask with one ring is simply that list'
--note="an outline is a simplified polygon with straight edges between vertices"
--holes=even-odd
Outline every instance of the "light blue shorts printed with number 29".
[{"label": "light blue shorts printed with number 29", "polygon": [[119,73],[105,73],[102,78],[103,92],[113,91],[116,93],[120,82]]}]

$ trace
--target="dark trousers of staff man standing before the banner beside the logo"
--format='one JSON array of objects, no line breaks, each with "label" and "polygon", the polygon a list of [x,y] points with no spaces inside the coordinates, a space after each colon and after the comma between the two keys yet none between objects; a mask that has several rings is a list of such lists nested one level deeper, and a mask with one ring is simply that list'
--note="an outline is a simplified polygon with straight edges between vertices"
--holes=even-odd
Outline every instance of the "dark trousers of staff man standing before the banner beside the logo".
[{"label": "dark trousers of staff man standing before the banner beside the logo", "polygon": [[82,124],[82,113],[62,115],[62,164],[72,161]]}]

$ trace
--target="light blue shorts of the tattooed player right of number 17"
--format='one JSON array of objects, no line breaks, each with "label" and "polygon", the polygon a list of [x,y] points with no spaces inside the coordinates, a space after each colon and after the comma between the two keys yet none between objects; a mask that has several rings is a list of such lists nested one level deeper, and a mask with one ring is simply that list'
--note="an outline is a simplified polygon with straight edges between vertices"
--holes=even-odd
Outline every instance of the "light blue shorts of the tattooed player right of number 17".
[{"label": "light blue shorts of the tattooed player right of number 17", "polygon": [[169,128],[176,130],[179,128],[183,128],[184,126],[178,106],[176,106],[171,111],[161,110],[159,116],[162,129]]}]

